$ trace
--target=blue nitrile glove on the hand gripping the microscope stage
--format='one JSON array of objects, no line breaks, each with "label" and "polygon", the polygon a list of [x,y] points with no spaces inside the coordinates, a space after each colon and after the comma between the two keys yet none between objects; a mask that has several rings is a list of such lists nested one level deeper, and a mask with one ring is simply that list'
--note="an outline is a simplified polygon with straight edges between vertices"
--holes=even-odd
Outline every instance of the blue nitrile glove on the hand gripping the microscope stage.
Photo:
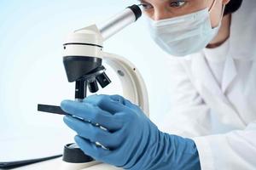
[{"label": "blue nitrile glove on the hand gripping the microscope stage", "polygon": [[201,169],[193,140],[160,132],[137,105],[119,95],[64,100],[61,108],[79,117],[65,116],[64,122],[78,133],[81,150],[97,161],[134,170]]}]

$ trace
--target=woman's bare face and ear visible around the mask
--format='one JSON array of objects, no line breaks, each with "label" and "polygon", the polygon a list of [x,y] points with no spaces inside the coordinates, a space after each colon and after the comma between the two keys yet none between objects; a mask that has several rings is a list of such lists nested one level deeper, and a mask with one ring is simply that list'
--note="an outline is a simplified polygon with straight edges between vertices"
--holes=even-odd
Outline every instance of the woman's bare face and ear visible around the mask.
[{"label": "woman's bare face and ear visible around the mask", "polygon": [[[139,0],[144,14],[152,20],[169,19],[211,8],[214,0]],[[210,12],[212,27],[218,26],[224,4],[230,0],[216,0]]]}]

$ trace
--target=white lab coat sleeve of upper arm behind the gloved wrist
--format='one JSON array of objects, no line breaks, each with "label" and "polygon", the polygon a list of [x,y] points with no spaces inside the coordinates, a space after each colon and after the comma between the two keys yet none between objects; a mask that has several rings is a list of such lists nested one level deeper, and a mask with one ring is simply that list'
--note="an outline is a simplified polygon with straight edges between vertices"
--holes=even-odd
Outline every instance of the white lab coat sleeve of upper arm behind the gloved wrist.
[{"label": "white lab coat sleeve of upper arm behind the gloved wrist", "polygon": [[195,137],[210,134],[210,109],[201,99],[193,83],[183,67],[182,59],[169,61],[170,79],[168,94],[169,111],[164,116],[164,122],[158,124],[160,130],[181,135]]}]

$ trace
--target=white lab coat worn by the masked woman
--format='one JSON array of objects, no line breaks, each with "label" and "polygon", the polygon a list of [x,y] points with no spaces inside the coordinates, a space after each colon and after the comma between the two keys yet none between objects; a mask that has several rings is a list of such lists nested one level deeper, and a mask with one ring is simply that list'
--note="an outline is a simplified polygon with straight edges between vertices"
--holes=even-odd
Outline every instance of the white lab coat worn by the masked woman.
[{"label": "white lab coat worn by the masked woman", "polygon": [[205,52],[170,60],[171,111],[160,129],[194,139],[203,170],[256,169],[255,0],[232,14],[230,30],[221,82]]}]

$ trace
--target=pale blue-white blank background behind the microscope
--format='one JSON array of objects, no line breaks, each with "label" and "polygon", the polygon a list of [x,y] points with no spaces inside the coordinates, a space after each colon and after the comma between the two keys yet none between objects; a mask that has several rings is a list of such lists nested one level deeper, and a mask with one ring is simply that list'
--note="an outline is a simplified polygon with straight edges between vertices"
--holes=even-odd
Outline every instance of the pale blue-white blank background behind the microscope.
[{"label": "pale blue-white blank background behind the microscope", "polygon": [[[73,99],[62,43],[69,32],[106,20],[133,3],[137,1],[0,1],[0,142],[26,136],[47,139],[49,134],[73,140],[61,116],[37,112],[38,103],[59,105],[62,99]],[[141,71],[151,119],[160,123],[168,108],[168,58],[150,39],[145,20],[109,39],[104,50],[125,56]],[[109,75],[116,80],[114,76]],[[109,94],[120,92],[118,82],[112,86]]]}]

